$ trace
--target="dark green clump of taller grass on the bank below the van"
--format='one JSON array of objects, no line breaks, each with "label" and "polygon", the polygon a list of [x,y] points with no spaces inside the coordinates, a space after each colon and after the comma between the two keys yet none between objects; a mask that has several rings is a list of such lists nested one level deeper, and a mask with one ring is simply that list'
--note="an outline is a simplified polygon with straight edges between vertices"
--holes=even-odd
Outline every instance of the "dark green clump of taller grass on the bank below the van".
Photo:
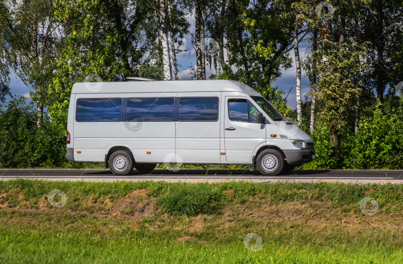
[{"label": "dark green clump of taller grass on the bank below the van", "polygon": [[159,199],[164,211],[172,215],[214,214],[223,205],[222,191],[206,184],[176,184]]}]

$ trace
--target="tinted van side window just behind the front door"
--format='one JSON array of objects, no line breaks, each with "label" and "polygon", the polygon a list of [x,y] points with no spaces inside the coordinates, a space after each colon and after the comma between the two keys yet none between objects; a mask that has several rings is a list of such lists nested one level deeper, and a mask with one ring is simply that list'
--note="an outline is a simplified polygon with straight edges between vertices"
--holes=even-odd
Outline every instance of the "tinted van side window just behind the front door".
[{"label": "tinted van side window just behind the front door", "polygon": [[179,121],[217,121],[218,97],[180,97]]}]

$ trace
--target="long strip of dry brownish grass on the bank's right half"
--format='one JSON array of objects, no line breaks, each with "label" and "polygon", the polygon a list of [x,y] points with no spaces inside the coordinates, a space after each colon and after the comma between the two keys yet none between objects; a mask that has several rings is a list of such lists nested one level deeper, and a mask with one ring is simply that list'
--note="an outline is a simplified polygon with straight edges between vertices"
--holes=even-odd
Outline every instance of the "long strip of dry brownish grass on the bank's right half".
[{"label": "long strip of dry brownish grass on the bank's right half", "polygon": [[[384,216],[385,211],[380,208],[376,217],[368,217],[360,212],[340,213],[339,209],[330,203],[322,202],[275,202],[269,200],[251,200],[244,204],[231,203],[225,207],[220,226],[223,229],[233,226],[238,219],[253,220],[256,222],[280,222],[284,225],[301,224],[305,227],[328,226],[339,223],[345,226],[372,226],[372,227],[400,227],[403,217],[395,215],[393,218]],[[386,220],[388,219],[388,220]]]}]

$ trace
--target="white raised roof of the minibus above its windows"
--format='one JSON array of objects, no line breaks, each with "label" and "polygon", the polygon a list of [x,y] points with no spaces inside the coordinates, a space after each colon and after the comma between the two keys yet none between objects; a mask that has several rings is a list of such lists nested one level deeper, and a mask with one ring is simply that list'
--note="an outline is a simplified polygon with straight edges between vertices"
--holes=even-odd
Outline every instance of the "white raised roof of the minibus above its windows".
[{"label": "white raised roof of the minibus above its windows", "polygon": [[230,80],[76,83],[72,89],[72,93],[192,91],[238,91],[247,93],[248,95],[260,95],[253,88]]}]

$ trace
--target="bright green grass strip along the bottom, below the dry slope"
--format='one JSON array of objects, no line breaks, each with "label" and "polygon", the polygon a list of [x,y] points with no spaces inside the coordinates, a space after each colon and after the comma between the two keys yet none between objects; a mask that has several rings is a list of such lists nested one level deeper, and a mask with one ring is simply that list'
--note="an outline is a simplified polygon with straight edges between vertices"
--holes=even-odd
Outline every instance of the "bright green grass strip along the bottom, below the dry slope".
[{"label": "bright green grass strip along the bottom, below the dry slope", "polygon": [[402,263],[402,249],[385,245],[284,245],[265,241],[249,251],[243,241],[177,242],[136,235],[119,239],[79,233],[0,229],[1,263]]}]

